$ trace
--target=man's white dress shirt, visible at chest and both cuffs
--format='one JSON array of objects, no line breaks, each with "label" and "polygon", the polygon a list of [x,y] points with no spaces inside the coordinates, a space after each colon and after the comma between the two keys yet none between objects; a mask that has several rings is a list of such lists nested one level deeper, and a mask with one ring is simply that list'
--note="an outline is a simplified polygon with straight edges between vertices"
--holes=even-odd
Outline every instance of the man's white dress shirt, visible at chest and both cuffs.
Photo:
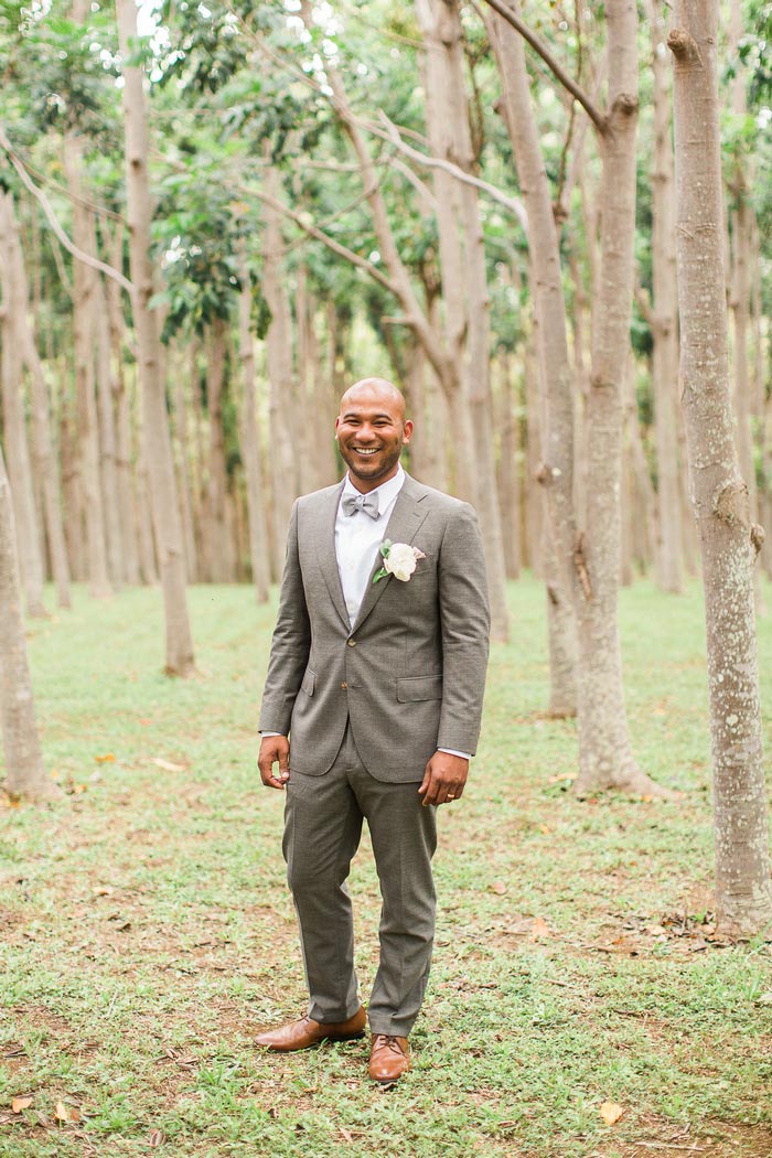
[{"label": "man's white dress shirt, visible at chest and both cuffs", "polygon": [[[343,587],[343,598],[348,613],[348,622],[352,628],[356,622],[359,609],[365,599],[367,584],[370,581],[373,564],[378,554],[378,548],[385,538],[385,529],[399,491],[405,482],[405,471],[397,467],[397,474],[385,483],[372,490],[370,494],[377,494],[378,516],[374,519],[366,511],[354,511],[353,514],[344,514],[344,494],[360,494],[346,474],[346,482],[340,492],[338,513],[334,526],[336,558],[338,560],[338,574]],[[409,580],[410,581],[410,580]],[[264,732],[263,735],[277,735],[275,732]],[[454,748],[440,748],[439,752],[447,752],[450,756],[461,756],[463,760],[471,760],[468,752],[456,752]]]}]

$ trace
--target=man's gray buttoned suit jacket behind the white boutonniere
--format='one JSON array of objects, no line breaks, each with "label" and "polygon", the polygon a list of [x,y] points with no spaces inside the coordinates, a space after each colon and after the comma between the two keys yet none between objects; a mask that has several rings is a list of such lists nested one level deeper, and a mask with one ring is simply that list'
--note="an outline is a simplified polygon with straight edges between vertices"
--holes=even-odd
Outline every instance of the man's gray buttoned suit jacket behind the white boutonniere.
[{"label": "man's gray buttoned suit jacket behind the white boutonniere", "polygon": [[438,748],[477,747],[490,630],[477,518],[406,475],[383,537],[426,558],[407,581],[370,578],[351,626],[334,550],[341,490],[293,507],[260,731],[289,734],[291,769],[321,776],[350,719],[372,776],[420,780]]}]

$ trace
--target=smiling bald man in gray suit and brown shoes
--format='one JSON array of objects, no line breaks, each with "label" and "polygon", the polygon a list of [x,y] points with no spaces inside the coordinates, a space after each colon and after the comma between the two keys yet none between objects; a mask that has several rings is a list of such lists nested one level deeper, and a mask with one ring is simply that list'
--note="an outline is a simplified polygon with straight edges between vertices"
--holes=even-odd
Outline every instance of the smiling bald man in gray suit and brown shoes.
[{"label": "smiling bald man in gray suit and brown shoes", "polygon": [[345,882],[367,819],[383,899],[369,1073],[382,1084],[410,1068],[434,938],[435,813],[464,791],[488,650],[475,512],[405,474],[412,431],[390,382],[344,394],[347,476],[293,507],[258,758],[266,787],[287,790],[310,1002],[257,1042],[287,1051],[362,1036]]}]

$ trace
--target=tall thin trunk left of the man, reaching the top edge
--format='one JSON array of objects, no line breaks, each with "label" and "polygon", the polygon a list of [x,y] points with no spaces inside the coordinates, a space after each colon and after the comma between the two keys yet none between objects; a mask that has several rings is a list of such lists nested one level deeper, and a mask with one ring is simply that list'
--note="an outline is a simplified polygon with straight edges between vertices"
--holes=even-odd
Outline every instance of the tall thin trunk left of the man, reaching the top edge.
[{"label": "tall thin trunk left of the man, reaching the top edge", "polygon": [[142,73],[128,66],[131,42],[137,38],[134,0],[116,0],[118,36],[124,61],[122,100],[126,131],[126,201],[130,264],[134,285],[138,368],[142,387],[142,422],[147,468],[150,476],[153,521],[166,610],[166,670],[169,675],[193,672],[193,642],[185,591],[185,552],[175,483],[171,438],[161,376],[161,340],[157,317],[148,303],[153,296],[150,263],[150,191],[147,171],[148,135]]}]

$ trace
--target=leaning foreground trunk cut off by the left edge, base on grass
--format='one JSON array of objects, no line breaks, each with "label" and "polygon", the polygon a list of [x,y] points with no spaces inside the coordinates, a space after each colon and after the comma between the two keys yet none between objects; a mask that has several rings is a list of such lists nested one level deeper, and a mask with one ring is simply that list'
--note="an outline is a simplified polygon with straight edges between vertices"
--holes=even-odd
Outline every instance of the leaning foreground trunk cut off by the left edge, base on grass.
[{"label": "leaning foreground trunk cut off by the left edge, base on grass", "polygon": [[54,796],[43,768],[21,609],[14,508],[0,448],[0,718],[12,797]]}]

